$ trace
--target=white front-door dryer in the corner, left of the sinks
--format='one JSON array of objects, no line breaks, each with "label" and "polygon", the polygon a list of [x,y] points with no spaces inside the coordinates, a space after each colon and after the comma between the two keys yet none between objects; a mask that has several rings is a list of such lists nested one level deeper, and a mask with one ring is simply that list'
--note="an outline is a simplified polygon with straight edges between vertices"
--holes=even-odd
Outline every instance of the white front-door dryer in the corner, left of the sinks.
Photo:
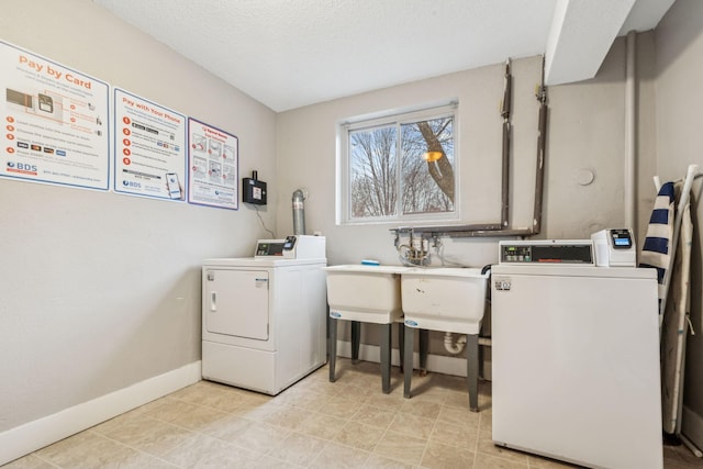
[{"label": "white front-door dryer in the corner, left of the sinks", "polygon": [[276,395],[326,361],[325,238],[202,266],[202,377]]}]

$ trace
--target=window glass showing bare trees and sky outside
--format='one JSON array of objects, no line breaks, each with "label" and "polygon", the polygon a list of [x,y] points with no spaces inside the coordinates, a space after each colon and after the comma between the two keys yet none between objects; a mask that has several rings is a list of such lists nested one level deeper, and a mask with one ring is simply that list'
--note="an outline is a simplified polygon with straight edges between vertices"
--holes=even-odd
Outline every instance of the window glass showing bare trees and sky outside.
[{"label": "window glass showing bare trees and sky outside", "polygon": [[454,212],[453,116],[353,130],[348,136],[352,219]]}]

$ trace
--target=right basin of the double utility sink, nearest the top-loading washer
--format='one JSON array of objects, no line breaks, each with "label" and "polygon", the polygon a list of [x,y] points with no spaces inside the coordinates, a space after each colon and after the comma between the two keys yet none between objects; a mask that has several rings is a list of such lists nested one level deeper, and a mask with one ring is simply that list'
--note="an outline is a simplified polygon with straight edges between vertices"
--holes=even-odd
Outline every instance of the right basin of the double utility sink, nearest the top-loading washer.
[{"label": "right basin of the double utility sink, nearest the top-loading washer", "polygon": [[401,273],[405,325],[478,334],[486,310],[488,272],[479,268],[409,268]]}]

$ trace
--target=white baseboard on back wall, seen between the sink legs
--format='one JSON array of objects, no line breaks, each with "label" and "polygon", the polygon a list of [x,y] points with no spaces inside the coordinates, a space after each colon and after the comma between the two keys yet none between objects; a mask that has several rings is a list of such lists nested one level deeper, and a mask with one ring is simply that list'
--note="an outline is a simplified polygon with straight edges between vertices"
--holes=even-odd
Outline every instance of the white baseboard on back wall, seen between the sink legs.
[{"label": "white baseboard on back wall, seen between the sink legs", "polygon": [[[467,375],[466,353],[457,357],[447,357],[444,355],[427,355],[427,371],[434,371],[443,375],[451,375],[465,377]],[[337,340],[337,356],[352,358],[352,343]],[[378,345],[359,345],[359,359],[364,361],[381,362],[381,347]],[[420,365],[420,354],[413,355],[413,364],[416,368]],[[400,351],[397,348],[391,350],[391,365],[400,366]],[[491,362],[483,364],[483,379],[491,379]]]}]

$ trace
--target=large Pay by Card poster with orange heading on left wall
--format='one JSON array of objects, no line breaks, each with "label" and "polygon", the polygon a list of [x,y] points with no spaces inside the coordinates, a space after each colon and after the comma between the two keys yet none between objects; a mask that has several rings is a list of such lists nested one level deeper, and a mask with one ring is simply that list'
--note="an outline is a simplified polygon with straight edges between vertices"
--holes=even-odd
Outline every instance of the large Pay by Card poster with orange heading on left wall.
[{"label": "large Pay by Card poster with orange heading on left wall", "polygon": [[0,42],[0,176],[108,190],[109,85]]}]

